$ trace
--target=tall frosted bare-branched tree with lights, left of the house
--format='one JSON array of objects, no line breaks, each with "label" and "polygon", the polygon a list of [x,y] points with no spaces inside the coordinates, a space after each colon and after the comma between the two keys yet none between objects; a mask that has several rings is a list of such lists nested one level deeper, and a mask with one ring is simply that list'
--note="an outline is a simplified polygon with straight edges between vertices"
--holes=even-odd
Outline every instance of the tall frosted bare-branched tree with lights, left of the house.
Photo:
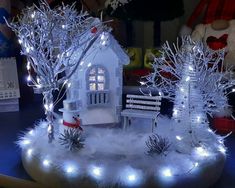
[{"label": "tall frosted bare-branched tree with lights, left of the house", "polygon": [[[58,102],[53,92],[67,85],[80,61],[105,30],[101,22],[77,12],[74,5],[51,9],[46,1],[26,8],[16,21],[8,23],[18,36],[21,54],[27,57],[29,85],[43,94],[49,141],[53,139],[53,111]],[[80,57],[72,61],[80,48]]]}]

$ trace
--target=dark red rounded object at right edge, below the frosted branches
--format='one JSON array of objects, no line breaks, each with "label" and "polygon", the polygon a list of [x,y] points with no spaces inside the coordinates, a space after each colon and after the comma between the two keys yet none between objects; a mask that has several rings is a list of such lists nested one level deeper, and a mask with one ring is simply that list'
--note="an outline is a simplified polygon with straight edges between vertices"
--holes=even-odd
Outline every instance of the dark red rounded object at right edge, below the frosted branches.
[{"label": "dark red rounded object at right edge, below the frosted branches", "polygon": [[235,120],[228,117],[213,118],[213,128],[219,133],[235,132]]}]

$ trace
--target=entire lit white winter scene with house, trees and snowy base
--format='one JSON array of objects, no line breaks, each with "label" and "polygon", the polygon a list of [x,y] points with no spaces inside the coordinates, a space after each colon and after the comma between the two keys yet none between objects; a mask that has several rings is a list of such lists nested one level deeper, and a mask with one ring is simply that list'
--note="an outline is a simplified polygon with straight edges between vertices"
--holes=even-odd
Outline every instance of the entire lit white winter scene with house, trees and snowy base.
[{"label": "entire lit white winter scene with house, trees and snowy base", "polygon": [[[224,70],[223,51],[215,53],[190,38],[174,49],[163,46],[142,91],[159,90],[174,101],[173,119],[159,116],[150,136],[151,121],[145,118],[133,119],[127,131],[109,126],[120,122],[122,69],[129,57],[99,19],[73,6],[51,10],[41,1],[18,20],[9,25],[28,58],[29,83],[44,95],[47,115],[18,141],[34,180],[64,188],[209,187],[218,179],[226,149],[223,137],[209,129],[207,114],[228,107],[226,92],[234,84]],[[54,106],[65,95],[61,122]],[[158,115],[161,97],[130,101],[149,105],[142,110]],[[155,112],[150,115],[154,125]]]}]

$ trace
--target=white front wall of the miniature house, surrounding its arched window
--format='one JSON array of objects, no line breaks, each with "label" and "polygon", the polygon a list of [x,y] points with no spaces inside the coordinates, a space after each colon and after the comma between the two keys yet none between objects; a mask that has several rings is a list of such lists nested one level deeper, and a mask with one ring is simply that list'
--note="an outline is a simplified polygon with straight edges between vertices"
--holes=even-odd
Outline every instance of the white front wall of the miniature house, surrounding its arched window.
[{"label": "white front wall of the miniature house, surrounding its arched window", "polygon": [[[82,124],[105,124],[117,123],[119,121],[118,110],[121,109],[122,70],[119,65],[119,59],[112,49],[97,49],[84,60],[73,76],[70,97],[78,98],[81,104],[80,118]],[[89,65],[102,65],[108,71],[108,87],[110,90],[109,106],[88,107],[87,106],[87,69]],[[120,78],[121,77],[121,78]]]}]

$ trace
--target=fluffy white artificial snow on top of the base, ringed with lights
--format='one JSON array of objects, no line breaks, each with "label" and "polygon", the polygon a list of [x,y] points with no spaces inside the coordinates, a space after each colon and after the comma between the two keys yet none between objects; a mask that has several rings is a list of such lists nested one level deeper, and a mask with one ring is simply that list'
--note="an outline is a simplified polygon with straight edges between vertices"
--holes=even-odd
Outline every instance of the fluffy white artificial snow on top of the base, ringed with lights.
[{"label": "fluffy white artificial snow on top of the base, ringed with lights", "polygon": [[[201,130],[202,132],[196,134],[207,143],[205,148],[208,155],[198,155],[197,148],[190,145],[189,153],[177,152],[173,126],[174,121],[160,117],[154,131],[169,139],[171,146],[166,155],[147,155],[148,148],[145,142],[152,133],[151,121],[144,119],[134,119],[127,131],[119,128],[83,126],[85,146],[78,152],[66,150],[59,144],[58,136],[53,143],[48,143],[47,126],[43,121],[21,137],[19,145],[28,162],[32,157],[37,158],[47,172],[53,167],[61,175],[65,173],[78,177],[89,176],[99,181],[100,185],[141,185],[153,174],[164,181],[165,178],[183,178],[193,175],[202,164],[211,164],[221,154],[224,156],[224,150],[221,149],[223,144],[219,142],[221,138],[207,130]],[[185,141],[184,139],[186,138],[182,138],[182,141]],[[189,140],[186,141],[187,144]],[[221,147],[218,147],[219,145]]]}]

